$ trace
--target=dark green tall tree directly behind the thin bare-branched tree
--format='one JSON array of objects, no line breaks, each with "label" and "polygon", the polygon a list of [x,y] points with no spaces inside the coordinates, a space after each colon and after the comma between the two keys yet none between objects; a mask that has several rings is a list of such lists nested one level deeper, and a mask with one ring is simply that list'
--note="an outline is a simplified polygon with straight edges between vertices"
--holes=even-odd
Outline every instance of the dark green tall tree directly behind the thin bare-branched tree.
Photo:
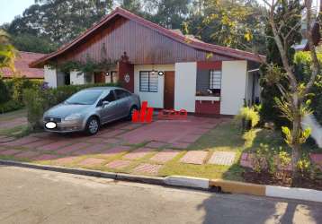
[{"label": "dark green tall tree directly behind the thin bare-branched tree", "polygon": [[[281,4],[278,5],[274,20],[275,22],[285,22],[286,27],[294,27],[296,26],[289,37],[287,42],[285,43],[287,49],[287,55],[290,63],[292,64],[292,58],[295,54],[295,50],[292,47],[296,43],[300,43],[302,39],[300,34],[300,24],[301,17],[300,16],[291,16],[287,20],[285,20],[285,16],[288,16],[289,13],[293,13],[295,15],[299,15],[303,10],[303,6],[300,4],[300,1],[282,1]],[[273,30],[271,24],[266,20],[265,25],[265,33],[266,37],[273,37]],[[290,29],[282,29],[281,32],[283,35],[287,35]],[[268,38],[266,41],[267,54],[266,54],[266,63],[272,64],[278,67],[282,67],[282,58],[279,52],[279,49],[275,43],[273,38]],[[275,107],[274,99],[276,97],[281,96],[281,92],[279,88],[275,85],[274,79],[276,77],[269,75],[267,73],[267,65],[261,66],[261,72],[264,74],[264,77],[261,79],[261,86],[263,90],[261,92],[262,97],[262,109],[261,109],[261,117],[265,122],[273,122],[278,128],[281,128],[283,125],[290,125],[289,121],[282,116],[282,111]],[[285,77],[281,78],[280,84],[286,88],[289,84]]]}]

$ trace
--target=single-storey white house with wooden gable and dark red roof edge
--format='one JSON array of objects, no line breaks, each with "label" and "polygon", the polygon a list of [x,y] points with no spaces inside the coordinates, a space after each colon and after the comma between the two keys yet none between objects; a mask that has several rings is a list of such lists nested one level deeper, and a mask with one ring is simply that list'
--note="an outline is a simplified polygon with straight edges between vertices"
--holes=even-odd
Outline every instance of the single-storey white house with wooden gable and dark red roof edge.
[{"label": "single-storey white house with wooden gable and dark red roof edge", "polygon": [[[108,71],[62,73],[68,61],[117,61]],[[31,63],[45,68],[45,82],[115,82],[149,107],[236,115],[244,100],[259,99],[258,67],[264,56],[220,47],[167,30],[117,8],[58,51]],[[56,65],[53,66],[53,65]]]}]

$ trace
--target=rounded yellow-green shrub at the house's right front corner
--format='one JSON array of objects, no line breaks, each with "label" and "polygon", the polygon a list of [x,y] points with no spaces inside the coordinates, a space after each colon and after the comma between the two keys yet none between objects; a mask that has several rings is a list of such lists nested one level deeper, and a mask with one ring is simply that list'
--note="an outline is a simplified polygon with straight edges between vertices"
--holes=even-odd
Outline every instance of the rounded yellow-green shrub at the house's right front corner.
[{"label": "rounded yellow-green shrub at the house's right front corner", "polygon": [[258,125],[260,116],[255,108],[244,107],[240,109],[236,119],[242,122],[243,130],[249,130]]}]

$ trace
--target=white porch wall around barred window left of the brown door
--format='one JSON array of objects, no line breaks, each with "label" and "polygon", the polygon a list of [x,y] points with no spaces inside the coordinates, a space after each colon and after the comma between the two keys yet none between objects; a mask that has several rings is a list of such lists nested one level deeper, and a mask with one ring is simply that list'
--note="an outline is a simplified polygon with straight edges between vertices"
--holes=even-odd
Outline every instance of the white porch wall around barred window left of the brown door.
[{"label": "white porch wall around barred window left of the brown door", "polygon": [[134,93],[152,108],[164,108],[165,76],[158,76],[157,92],[139,91],[139,71],[174,71],[174,65],[134,65]]}]

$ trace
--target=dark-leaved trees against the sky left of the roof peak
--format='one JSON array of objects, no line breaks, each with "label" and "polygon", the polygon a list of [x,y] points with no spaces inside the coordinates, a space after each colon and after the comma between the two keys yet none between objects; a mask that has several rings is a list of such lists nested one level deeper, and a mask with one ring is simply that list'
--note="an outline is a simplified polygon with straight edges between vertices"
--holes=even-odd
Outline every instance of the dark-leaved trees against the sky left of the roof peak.
[{"label": "dark-leaved trees against the sky left of the roof peak", "polygon": [[36,0],[8,27],[12,35],[29,34],[61,45],[99,22],[112,0]]}]

